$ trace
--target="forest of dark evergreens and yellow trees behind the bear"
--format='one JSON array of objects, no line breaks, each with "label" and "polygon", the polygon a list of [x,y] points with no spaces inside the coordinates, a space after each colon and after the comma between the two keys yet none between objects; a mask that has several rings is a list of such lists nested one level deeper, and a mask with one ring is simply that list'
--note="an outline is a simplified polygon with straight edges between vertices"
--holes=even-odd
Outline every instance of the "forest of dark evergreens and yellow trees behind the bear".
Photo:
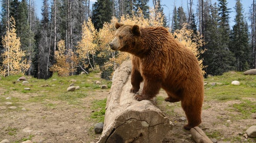
[{"label": "forest of dark evergreens and yellow trees behind the bear", "polygon": [[0,76],[22,73],[48,79],[55,72],[71,76],[100,70],[102,78],[111,79],[113,71],[130,58],[109,47],[117,21],[166,27],[195,53],[205,77],[256,68],[254,0],[250,17],[245,17],[237,0],[234,19],[230,19],[226,0],[187,0],[187,7],[174,5],[168,16],[161,0],[152,0],[152,8],[150,0],[98,0],[92,7],[90,0],[42,3],[39,19],[33,0],[1,1]]}]

